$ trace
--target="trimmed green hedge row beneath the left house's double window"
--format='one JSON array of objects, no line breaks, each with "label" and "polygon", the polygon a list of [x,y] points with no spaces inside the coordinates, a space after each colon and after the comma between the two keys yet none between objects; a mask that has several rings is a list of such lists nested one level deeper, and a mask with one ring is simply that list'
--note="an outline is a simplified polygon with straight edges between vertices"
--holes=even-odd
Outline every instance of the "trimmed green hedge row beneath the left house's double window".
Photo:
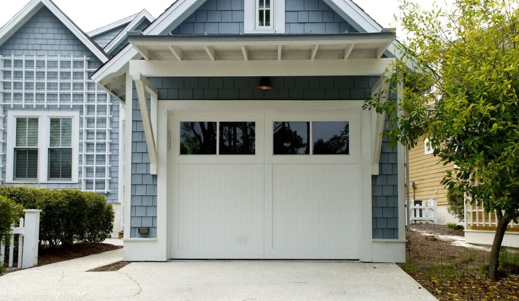
[{"label": "trimmed green hedge row beneath the left house's double window", "polygon": [[76,189],[0,186],[5,196],[25,209],[40,209],[40,243],[54,247],[110,238],[114,210],[102,195]]}]

